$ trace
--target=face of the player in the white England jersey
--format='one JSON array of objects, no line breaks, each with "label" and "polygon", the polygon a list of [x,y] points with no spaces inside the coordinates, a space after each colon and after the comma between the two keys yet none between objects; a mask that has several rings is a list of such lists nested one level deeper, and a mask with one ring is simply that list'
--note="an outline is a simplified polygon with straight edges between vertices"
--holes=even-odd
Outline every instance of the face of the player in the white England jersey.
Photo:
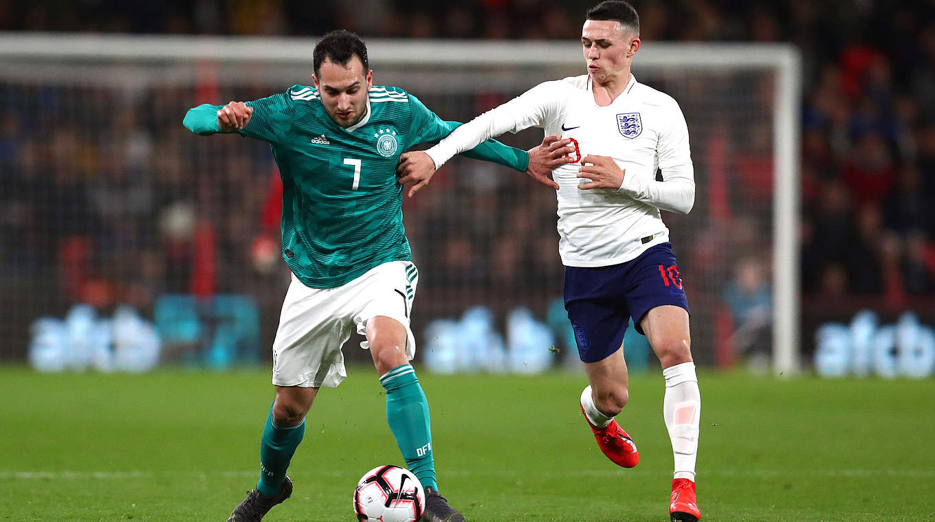
[{"label": "face of the player in the white England jersey", "polygon": [[[587,72],[595,83],[629,81],[630,63],[640,49],[640,38],[619,21],[584,21],[582,46]],[[619,78],[624,74],[627,78]]]}]

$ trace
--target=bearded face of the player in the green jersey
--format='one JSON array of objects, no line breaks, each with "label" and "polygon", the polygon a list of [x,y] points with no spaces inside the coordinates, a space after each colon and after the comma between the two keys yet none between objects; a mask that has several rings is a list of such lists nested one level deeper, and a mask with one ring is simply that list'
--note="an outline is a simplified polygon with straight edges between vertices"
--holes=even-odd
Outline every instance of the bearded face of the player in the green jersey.
[{"label": "bearded face of the player in the green jersey", "polygon": [[364,63],[352,56],[348,63],[325,60],[318,74],[311,75],[322,96],[324,112],[341,127],[350,127],[367,113],[367,91],[373,87],[373,71],[364,72]]}]

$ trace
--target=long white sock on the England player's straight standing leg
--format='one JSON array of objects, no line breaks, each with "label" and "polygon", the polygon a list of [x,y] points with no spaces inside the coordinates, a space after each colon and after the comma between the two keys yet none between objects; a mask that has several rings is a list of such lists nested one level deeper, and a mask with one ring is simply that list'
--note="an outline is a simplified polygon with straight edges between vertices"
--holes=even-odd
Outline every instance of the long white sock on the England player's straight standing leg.
[{"label": "long white sock on the England player's straight standing leg", "polygon": [[674,478],[695,480],[698,458],[698,422],[701,416],[701,392],[694,362],[683,362],[662,371],[666,378],[666,398],[662,413],[672,441],[675,457]]}]

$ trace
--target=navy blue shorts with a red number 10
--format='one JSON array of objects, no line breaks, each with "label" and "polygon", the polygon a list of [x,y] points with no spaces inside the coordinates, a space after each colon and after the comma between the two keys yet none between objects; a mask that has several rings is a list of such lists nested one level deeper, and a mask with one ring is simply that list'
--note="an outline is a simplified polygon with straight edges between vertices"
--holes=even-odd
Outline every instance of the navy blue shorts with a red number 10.
[{"label": "navy blue shorts with a red number 10", "polygon": [[645,335],[640,320],[663,304],[688,311],[670,243],[650,247],[620,264],[565,267],[565,309],[584,362],[597,362],[617,351],[630,317],[637,332]]}]

